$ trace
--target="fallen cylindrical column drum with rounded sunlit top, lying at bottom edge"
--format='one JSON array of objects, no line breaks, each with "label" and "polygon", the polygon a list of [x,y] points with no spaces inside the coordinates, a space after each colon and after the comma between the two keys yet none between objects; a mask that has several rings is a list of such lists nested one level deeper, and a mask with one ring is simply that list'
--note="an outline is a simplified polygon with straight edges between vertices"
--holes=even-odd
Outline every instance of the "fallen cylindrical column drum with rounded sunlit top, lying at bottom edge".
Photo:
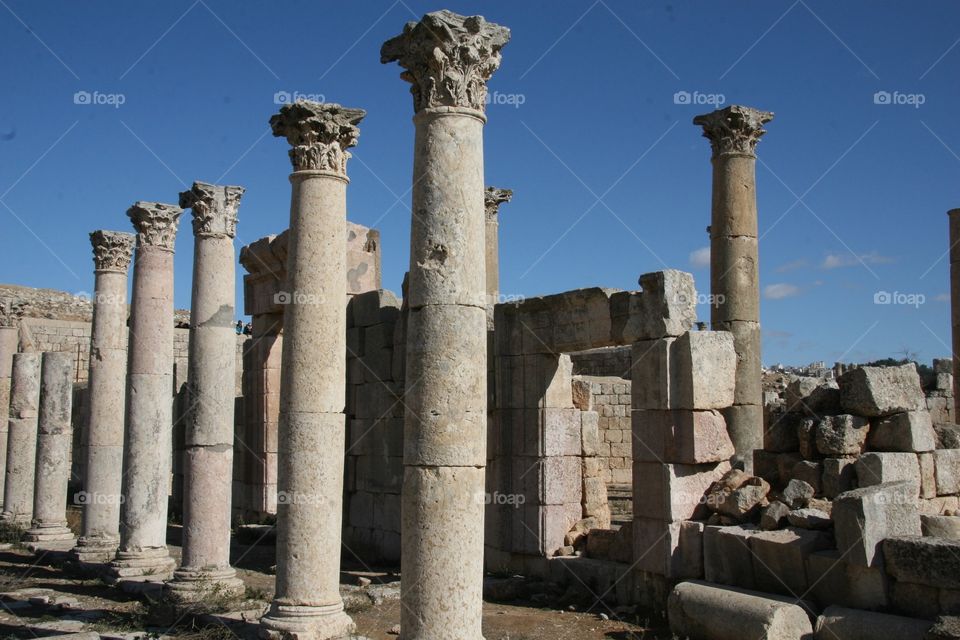
[{"label": "fallen cylindrical column drum with rounded sunlit top, lying at bottom edge", "polygon": [[667,601],[670,631],[690,640],[808,640],[813,628],[806,612],[788,598],[681,582]]}]

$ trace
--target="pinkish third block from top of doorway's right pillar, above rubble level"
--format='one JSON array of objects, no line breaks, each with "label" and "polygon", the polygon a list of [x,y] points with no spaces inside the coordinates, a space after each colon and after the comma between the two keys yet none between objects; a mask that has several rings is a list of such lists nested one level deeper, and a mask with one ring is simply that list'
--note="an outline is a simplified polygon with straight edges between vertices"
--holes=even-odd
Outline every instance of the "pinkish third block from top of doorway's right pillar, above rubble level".
[{"label": "pinkish third block from top of doorway's right pillar, above rubble level", "polygon": [[718,411],[634,411],[633,459],[701,464],[729,460],[733,444]]}]

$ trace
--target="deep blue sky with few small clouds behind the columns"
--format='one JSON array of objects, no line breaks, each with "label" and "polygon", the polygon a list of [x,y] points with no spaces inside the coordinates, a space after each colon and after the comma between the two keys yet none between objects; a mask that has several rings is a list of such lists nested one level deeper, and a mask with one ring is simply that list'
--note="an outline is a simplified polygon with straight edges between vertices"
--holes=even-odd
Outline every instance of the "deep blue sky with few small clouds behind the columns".
[{"label": "deep blue sky with few small clouds behind the columns", "polygon": [[[722,100],[776,113],[757,166],[764,362],[949,354],[960,4],[948,0],[2,0],[0,282],[91,290],[87,233],[129,230],[135,200],[176,202],[193,180],[247,188],[238,247],[281,231],[290,165],[267,121],[277,92],[299,92],[368,111],[349,217],[381,230],[384,286],[399,290],[412,101],[379,49],[444,7],[513,32],[485,134],[488,184],[515,191],[501,208],[505,295],[631,289],[667,267],[708,292],[710,151],[691,120]],[[78,91],[105,104],[75,104]]]}]

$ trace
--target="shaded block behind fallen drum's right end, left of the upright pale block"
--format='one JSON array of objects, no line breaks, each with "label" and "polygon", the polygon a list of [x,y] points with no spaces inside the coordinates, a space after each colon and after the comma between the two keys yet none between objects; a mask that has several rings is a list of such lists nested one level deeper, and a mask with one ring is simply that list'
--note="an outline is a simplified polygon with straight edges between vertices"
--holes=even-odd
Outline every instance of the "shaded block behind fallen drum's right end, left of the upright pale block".
[{"label": "shaded block behind fallen drum's right end, left of the upright pale block", "polygon": [[751,536],[750,550],[755,557],[753,573],[757,588],[770,593],[802,596],[810,584],[806,573],[807,556],[831,546],[828,534],[796,527],[762,531]]}]

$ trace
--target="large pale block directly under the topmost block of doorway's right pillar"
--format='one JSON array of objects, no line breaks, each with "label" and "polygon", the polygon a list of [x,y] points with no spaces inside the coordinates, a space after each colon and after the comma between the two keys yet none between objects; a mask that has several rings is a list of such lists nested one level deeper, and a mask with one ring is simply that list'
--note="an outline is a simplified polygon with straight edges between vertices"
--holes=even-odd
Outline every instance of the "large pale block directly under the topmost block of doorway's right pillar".
[{"label": "large pale block directly under the topmost block of doorway's right pillar", "polygon": [[672,408],[723,409],[733,404],[737,353],[723,331],[688,331],[671,345]]}]

